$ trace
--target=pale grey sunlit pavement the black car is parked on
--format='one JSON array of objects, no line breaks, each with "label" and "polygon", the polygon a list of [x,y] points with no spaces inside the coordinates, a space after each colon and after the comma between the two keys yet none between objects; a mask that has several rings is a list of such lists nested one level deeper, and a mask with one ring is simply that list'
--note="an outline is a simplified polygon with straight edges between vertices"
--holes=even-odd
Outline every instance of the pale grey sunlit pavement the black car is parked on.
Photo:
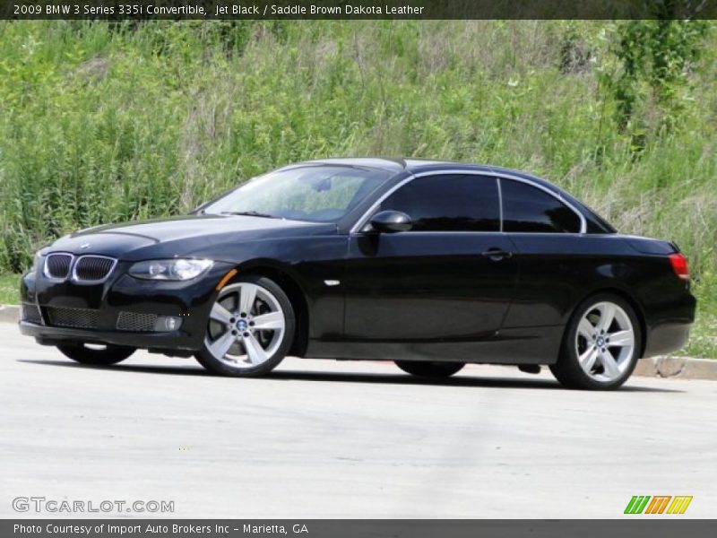
[{"label": "pale grey sunlit pavement the black car is parked on", "polygon": [[143,352],[93,369],[12,324],[0,358],[3,517],[19,496],[173,500],[187,517],[620,517],[637,494],[717,515],[714,381],[585,393],[501,367],[426,383],[296,359],[229,379]]}]

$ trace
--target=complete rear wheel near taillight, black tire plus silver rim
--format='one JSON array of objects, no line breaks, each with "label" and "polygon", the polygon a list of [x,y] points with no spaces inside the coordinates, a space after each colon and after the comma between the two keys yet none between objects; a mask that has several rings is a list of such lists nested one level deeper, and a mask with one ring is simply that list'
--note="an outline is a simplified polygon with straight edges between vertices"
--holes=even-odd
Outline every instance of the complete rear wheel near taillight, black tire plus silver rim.
[{"label": "complete rear wheel near taillight, black tire plus silver rim", "polygon": [[633,373],[641,343],[635,308],[612,293],[593,295],[575,308],[550,371],[568,388],[613,390]]}]

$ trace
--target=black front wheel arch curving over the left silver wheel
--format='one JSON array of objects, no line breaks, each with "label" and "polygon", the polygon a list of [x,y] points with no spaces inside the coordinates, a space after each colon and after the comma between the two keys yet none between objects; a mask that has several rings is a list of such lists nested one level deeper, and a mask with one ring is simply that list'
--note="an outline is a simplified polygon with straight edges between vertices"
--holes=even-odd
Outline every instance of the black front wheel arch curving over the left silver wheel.
[{"label": "black front wheel arch curving over the left silver wheel", "polygon": [[289,348],[289,355],[303,357],[307,352],[309,334],[309,314],[307,296],[298,279],[291,273],[288,267],[273,262],[272,260],[253,260],[234,267],[237,273],[229,279],[225,285],[237,282],[246,274],[255,274],[272,279],[284,293],[289,297],[291,308],[294,309],[296,332],[294,341]]}]

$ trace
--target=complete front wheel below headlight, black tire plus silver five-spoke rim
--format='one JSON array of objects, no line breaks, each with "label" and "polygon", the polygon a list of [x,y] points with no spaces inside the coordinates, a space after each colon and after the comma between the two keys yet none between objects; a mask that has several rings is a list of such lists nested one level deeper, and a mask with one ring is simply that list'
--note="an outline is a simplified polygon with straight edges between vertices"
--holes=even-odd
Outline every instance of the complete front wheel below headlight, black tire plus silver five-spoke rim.
[{"label": "complete front wheel below headlight, black tire plus silver five-spoke rim", "polygon": [[295,330],[294,309],[279,284],[246,275],[220,290],[194,357],[222,376],[263,376],[289,352]]}]

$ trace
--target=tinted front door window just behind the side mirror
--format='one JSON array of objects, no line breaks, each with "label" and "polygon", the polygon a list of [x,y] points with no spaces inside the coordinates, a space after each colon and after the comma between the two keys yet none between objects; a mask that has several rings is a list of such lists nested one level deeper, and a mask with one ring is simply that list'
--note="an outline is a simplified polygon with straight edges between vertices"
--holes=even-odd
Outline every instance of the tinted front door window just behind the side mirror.
[{"label": "tinted front door window just behind the side mirror", "polygon": [[411,231],[499,231],[497,181],[483,176],[428,176],[399,188],[381,210],[402,211]]}]

